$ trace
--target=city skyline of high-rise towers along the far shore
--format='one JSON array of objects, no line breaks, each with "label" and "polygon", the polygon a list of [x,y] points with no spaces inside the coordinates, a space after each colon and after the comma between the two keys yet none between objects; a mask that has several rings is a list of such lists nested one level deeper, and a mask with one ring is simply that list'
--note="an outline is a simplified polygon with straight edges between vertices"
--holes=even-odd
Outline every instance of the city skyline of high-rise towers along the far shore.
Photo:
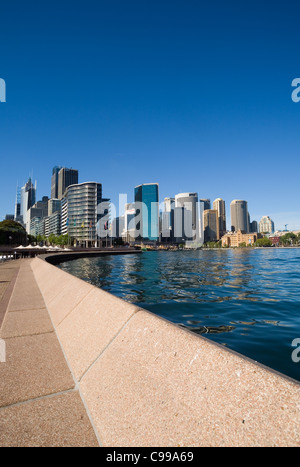
[{"label": "city skyline of high-rise towers along the far shore", "polygon": [[[96,235],[96,226],[97,229],[102,229],[101,234],[100,231],[98,232],[97,230],[98,236],[103,238],[103,236],[107,235],[108,232],[103,230],[103,226],[106,224],[107,226],[104,227],[104,229],[109,229],[108,223],[106,223],[108,219],[111,226],[115,223],[113,232],[115,232],[114,229],[117,227],[117,224],[121,225],[121,218],[123,218],[122,223],[124,223],[124,226],[128,224],[128,220],[125,220],[127,216],[126,211],[128,209],[132,210],[132,208],[136,216],[135,224],[136,226],[139,224],[137,230],[140,232],[138,234],[140,239],[158,241],[159,237],[162,235],[162,237],[169,237],[167,241],[171,242],[175,240],[175,237],[175,241],[177,242],[179,240],[184,240],[184,238],[185,240],[192,240],[193,237],[192,241],[202,243],[203,241],[220,240],[226,232],[274,233],[275,230],[274,222],[269,216],[263,216],[259,223],[255,219],[251,219],[248,211],[248,203],[245,200],[231,201],[229,220],[226,218],[225,200],[216,198],[213,200],[213,203],[211,203],[210,199],[200,198],[198,193],[187,192],[177,193],[175,197],[167,197],[162,201],[159,197],[159,184],[154,182],[143,183],[134,187],[133,203],[128,204],[127,195],[125,197],[124,195],[120,195],[119,204],[114,205],[109,198],[102,197],[101,183],[91,181],[73,183],[78,182],[78,175],[78,169],[69,169],[60,166],[53,167],[51,175],[51,197],[43,195],[42,199],[38,201],[36,200],[35,191],[37,182],[33,185],[31,177],[29,177],[24,187],[17,190],[15,215],[8,215],[7,217],[14,217],[15,220],[26,225],[26,230],[31,235],[46,234],[47,237],[50,233],[55,235],[62,233],[63,235],[67,234],[74,237],[73,234],[76,231],[77,234],[75,237],[78,237],[78,239],[79,237],[82,237],[82,239],[86,238],[89,241]],[[61,187],[62,179],[64,180],[63,190]],[[55,185],[60,186],[60,189],[55,189]],[[98,187],[97,197],[93,194],[95,186]],[[84,187],[87,187],[87,190],[85,190]],[[29,198],[28,196],[25,198],[25,193],[28,192],[28,188],[32,188],[34,192]],[[19,191],[21,196],[18,195]],[[63,197],[59,199],[53,198],[59,191],[64,192]],[[72,201],[72,192],[75,194],[74,202]],[[72,203],[75,203],[75,210],[72,208]],[[27,206],[28,210],[24,211],[24,204]],[[212,205],[213,210],[211,210]],[[130,207],[128,208],[128,206]],[[145,213],[143,213],[144,209]],[[171,211],[173,211],[172,215]],[[110,212],[109,217],[105,214],[108,212]],[[88,218],[86,218],[86,214],[89,216]],[[25,222],[23,222],[24,215]],[[103,215],[105,215],[105,218],[101,224],[102,227],[100,227],[98,221]],[[159,227],[160,222],[161,225]],[[75,229],[74,232],[72,228],[73,230]],[[130,229],[131,228],[132,227],[130,227]],[[171,237],[170,232],[168,233],[169,228],[172,230]],[[117,227],[117,229],[119,229],[119,227]],[[178,235],[176,235],[176,232],[179,232],[178,229],[181,230],[180,239],[177,238]],[[114,236],[113,232],[109,235]],[[127,234],[128,233],[129,231]]]}]

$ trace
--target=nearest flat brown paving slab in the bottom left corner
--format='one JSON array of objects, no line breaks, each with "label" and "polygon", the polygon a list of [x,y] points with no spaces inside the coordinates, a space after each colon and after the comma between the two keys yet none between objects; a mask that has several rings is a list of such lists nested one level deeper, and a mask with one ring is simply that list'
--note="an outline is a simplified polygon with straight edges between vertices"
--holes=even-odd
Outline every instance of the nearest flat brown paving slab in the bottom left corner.
[{"label": "nearest flat brown paving slab in the bottom left corner", "polygon": [[78,392],[0,409],[1,447],[97,447]]}]

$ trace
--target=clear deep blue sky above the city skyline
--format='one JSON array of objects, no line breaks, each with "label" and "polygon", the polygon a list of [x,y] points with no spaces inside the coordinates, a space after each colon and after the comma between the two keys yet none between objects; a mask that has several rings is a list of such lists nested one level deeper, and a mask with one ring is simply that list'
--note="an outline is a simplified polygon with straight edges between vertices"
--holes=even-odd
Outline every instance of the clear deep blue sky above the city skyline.
[{"label": "clear deep blue sky above the city skyline", "polygon": [[62,165],[114,203],[158,182],[300,229],[299,24],[298,1],[2,2],[0,218]]}]

